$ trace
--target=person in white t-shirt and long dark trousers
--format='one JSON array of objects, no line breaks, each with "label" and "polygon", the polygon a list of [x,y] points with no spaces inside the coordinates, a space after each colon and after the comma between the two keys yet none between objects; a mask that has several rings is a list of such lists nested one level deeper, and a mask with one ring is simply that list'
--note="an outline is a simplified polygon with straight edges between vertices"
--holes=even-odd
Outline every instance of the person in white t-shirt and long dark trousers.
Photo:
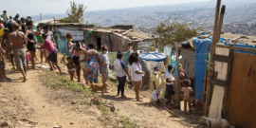
[{"label": "person in white t-shirt and long dark trousers", "polygon": [[126,98],[126,96],[124,95],[124,85],[126,82],[126,76],[128,76],[129,81],[131,80],[131,76],[129,75],[128,70],[126,69],[125,64],[121,61],[122,55],[123,54],[119,51],[117,54],[118,59],[114,60],[113,64],[114,64],[116,76],[119,81],[117,96],[119,96],[121,92],[121,98]]}]

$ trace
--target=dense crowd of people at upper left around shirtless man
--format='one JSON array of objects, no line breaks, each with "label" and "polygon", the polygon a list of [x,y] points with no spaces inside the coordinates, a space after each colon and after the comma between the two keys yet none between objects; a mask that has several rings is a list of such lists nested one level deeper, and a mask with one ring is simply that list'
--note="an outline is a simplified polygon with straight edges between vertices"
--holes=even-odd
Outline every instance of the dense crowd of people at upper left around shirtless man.
[{"label": "dense crowd of people at upper left around shirtless man", "polygon": [[[0,18],[0,41],[1,41],[1,60],[0,60],[0,81],[9,81],[10,79],[5,74],[4,55],[6,55],[13,69],[17,67],[23,74],[23,82],[27,81],[28,62],[31,62],[32,69],[36,69],[35,58],[36,50],[41,52],[41,63],[44,57],[46,63],[50,65],[50,69],[62,70],[57,62],[58,51],[55,47],[53,34],[49,31],[49,26],[45,26],[44,30],[41,27],[35,27],[30,16],[27,19],[20,18],[19,14],[12,19],[12,16],[7,15],[7,11]],[[14,64],[15,61],[15,64]]]}]

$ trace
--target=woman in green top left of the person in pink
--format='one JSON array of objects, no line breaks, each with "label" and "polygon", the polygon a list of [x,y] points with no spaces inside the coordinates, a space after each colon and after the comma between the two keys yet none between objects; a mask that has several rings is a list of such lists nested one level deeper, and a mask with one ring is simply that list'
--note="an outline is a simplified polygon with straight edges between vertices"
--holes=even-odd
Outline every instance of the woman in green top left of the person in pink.
[{"label": "woman in green top left of the person in pink", "polygon": [[[43,46],[44,45],[44,40],[42,39],[42,28],[37,26],[36,27],[36,32],[35,32],[35,36],[36,36],[36,39],[37,39],[37,45],[38,46]],[[46,58],[46,54],[45,54],[45,49],[40,49],[40,58],[41,58],[41,64],[43,64],[43,59],[44,57]]]}]

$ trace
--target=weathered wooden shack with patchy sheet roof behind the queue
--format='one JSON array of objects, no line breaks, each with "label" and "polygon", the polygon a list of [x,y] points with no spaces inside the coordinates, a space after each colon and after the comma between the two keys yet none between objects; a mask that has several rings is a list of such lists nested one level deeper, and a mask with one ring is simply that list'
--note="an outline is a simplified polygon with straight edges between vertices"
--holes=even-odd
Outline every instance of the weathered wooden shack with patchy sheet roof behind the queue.
[{"label": "weathered wooden shack with patchy sheet roof behind the queue", "polygon": [[132,25],[117,25],[113,27],[82,28],[86,44],[94,44],[97,50],[108,46],[109,51],[127,51],[131,47],[137,50],[137,43],[156,40],[158,37],[149,33],[137,31]]}]

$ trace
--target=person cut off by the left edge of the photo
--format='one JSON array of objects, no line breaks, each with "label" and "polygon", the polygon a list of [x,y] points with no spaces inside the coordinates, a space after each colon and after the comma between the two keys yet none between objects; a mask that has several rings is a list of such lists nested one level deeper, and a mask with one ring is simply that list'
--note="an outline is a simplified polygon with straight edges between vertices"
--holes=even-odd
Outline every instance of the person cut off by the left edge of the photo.
[{"label": "person cut off by the left edge of the photo", "polygon": [[0,45],[0,82],[10,81],[10,79],[6,76],[6,64],[4,58],[2,57],[5,54],[5,50]]}]

